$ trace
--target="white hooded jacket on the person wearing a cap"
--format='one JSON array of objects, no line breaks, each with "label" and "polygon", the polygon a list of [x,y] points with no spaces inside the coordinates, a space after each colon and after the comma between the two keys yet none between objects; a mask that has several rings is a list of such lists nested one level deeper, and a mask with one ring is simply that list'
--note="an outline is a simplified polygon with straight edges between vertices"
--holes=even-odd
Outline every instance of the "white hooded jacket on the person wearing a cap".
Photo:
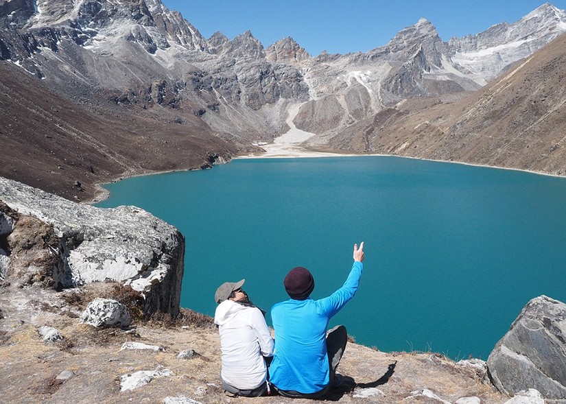
[{"label": "white hooded jacket on the person wearing a cap", "polygon": [[222,379],[239,390],[252,390],[265,383],[263,355],[273,355],[274,341],[261,311],[224,300],[216,308],[214,322],[220,331]]}]

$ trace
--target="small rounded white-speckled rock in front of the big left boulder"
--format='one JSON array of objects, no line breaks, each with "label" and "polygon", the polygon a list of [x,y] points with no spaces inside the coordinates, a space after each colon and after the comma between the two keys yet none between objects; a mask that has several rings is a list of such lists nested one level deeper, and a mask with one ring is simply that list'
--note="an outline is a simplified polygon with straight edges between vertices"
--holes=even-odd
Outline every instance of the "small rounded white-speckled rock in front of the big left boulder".
[{"label": "small rounded white-speckled rock in front of the big left boulder", "polygon": [[112,299],[95,298],[86,306],[80,321],[91,326],[127,327],[132,319],[128,308]]}]

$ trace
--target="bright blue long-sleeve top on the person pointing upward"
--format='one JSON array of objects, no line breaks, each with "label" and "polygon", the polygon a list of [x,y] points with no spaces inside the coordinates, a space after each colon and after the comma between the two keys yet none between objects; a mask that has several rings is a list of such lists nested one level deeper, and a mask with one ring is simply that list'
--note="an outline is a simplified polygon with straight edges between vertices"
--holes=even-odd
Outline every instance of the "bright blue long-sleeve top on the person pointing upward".
[{"label": "bright blue long-sleeve top on the person pointing upward", "polygon": [[353,298],[364,265],[354,262],[344,285],[320,300],[285,300],[271,309],[275,352],[270,381],[281,390],[315,393],[329,383],[328,322]]}]

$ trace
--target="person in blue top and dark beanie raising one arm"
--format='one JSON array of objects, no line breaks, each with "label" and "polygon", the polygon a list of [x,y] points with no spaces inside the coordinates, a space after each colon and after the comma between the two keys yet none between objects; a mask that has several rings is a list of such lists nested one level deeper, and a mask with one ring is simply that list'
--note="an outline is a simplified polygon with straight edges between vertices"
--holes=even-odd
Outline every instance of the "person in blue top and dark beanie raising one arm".
[{"label": "person in blue top and dark beanie raising one arm", "polygon": [[364,265],[364,243],[354,244],[354,263],[344,285],[320,300],[309,296],[314,278],[307,268],[296,267],[285,276],[283,285],[290,299],[271,309],[275,330],[275,351],[270,367],[270,383],[287,397],[318,399],[339,385],[335,373],[346,348],[344,326],[327,335],[329,320],[353,298]]}]

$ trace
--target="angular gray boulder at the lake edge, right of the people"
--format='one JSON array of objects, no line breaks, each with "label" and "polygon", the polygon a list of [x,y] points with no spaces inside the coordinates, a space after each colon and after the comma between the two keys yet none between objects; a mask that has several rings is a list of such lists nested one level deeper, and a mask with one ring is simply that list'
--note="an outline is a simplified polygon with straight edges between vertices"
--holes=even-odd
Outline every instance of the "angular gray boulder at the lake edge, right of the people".
[{"label": "angular gray boulder at the lake edge, right of the people", "polygon": [[487,367],[501,392],[532,388],[566,403],[566,305],[547,296],[530,300],[497,342]]}]

